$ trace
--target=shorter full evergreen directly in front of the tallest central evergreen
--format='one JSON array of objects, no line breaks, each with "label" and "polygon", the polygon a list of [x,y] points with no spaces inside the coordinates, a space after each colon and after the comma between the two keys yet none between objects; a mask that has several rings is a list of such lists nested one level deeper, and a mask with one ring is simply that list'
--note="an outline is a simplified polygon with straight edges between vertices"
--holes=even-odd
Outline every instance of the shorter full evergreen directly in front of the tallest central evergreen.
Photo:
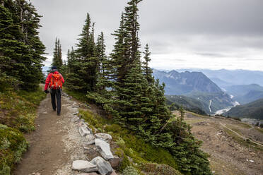
[{"label": "shorter full evergreen directly in front of the tallest central evergreen", "polygon": [[118,122],[124,123],[128,128],[139,131],[144,128],[146,111],[150,100],[146,97],[147,82],[141,72],[141,64],[135,61],[133,67],[127,72],[124,78],[124,86],[117,87],[119,95],[119,116]]}]

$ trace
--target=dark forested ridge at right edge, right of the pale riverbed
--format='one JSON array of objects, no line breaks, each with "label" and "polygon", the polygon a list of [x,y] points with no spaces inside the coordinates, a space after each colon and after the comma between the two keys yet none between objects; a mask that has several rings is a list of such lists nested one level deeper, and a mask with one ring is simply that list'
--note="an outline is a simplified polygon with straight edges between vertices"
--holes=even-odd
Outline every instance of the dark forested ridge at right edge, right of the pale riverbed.
[{"label": "dark forested ridge at right edge, right of the pale riverbed", "polygon": [[255,102],[233,107],[223,115],[263,120],[263,98]]}]

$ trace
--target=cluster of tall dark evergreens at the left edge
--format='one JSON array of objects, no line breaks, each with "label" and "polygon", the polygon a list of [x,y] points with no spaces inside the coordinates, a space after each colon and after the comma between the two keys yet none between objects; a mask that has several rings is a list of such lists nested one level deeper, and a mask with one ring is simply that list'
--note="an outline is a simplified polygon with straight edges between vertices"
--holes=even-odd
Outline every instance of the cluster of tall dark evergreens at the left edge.
[{"label": "cluster of tall dark evergreens at the left edge", "polygon": [[41,16],[25,0],[2,0],[0,6],[1,74],[18,80],[23,89],[35,89],[42,80],[41,63],[45,60],[45,46],[37,31]]}]

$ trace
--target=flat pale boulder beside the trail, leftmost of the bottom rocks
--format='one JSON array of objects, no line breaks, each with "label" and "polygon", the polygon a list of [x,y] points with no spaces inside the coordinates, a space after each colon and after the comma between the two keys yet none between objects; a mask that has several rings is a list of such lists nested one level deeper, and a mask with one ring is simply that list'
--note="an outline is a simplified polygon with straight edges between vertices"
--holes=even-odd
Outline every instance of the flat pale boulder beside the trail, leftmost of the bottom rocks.
[{"label": "flat pale boulder beside the trail, leftmost of the bottom rocks", "polygon": [[85,173],[98,171],[98,168],[95,164],[92,164],[86,160],[75,160],[72,163],[72,169],[76,171],[82,171]]}]

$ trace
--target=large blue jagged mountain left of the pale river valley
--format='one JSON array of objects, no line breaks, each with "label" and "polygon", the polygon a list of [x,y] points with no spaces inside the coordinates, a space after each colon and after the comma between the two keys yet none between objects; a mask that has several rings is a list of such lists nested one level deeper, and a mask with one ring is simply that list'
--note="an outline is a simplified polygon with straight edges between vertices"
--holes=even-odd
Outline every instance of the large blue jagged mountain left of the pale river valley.
[{"label": "large blue jagged mountain left of the pale river valley", "polygon": [[[214,114],[220,109],[233,106],[233,100],[216,83],[201,72],[153,70],[153,76],[165,83],[165,95],[183,95],[198,100],[202,111]],[[182,96],[182,97],[183,97]],[[177,102],[174,98],[173,102]],[[177,101],[176,101],[177,100]]]}]

